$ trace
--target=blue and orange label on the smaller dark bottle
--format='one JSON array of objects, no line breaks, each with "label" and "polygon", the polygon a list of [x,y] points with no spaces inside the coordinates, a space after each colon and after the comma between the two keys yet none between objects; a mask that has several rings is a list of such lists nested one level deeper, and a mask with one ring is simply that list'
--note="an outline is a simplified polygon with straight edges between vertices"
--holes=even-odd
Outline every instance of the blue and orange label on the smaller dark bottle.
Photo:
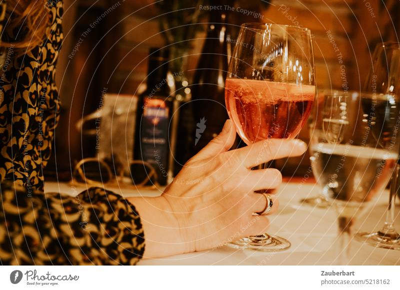
[{"label": "blue and orange label on the smaller dark bottle", "polygon": [[158,182],[166,182],[168,168],[169,108],[163,100],[144,98],[140,126],[140,150],[143,161],[157,172]]}]

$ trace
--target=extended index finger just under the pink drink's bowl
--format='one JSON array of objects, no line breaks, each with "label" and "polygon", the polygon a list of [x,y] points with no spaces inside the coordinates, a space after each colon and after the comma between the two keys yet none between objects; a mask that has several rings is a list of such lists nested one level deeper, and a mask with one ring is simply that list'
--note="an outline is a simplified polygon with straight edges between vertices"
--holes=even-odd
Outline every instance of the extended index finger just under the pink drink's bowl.
[{"label": "extended index finger just under the pink drink's bowl", "polygon": [[257,166],[273,159],[299,156],[307,145],[298,139],[266,139],[233,151],[247,168]]}]

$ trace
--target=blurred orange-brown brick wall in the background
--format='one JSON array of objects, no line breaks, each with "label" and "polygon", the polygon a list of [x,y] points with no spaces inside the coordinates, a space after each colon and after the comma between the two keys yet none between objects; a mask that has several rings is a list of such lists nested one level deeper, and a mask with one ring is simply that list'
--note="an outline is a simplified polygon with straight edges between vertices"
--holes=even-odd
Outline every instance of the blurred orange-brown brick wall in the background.
[{"label": "blurred orange-brown brick wall in the background", "polygon": [[[352,38],[354,36],[354,16],[357,6],[355,0],[301,0],[284,1],[272,0],[268,9],[263,12],[262,21],[278,24],[302,25],[311,29],[314,36],[314,54],[316,66],[316,81],[319,88],[339,88],[340,66],[337,53],[341,52],[345,65],[346,76],[351,78],[354,74],[354,52]],[[136,0],[132,9],[143,7],[148,0]],[[123,92],[134,92],[137,85],[144,79],[146,72],[147,55],[151,46],[164,45],[158,33],[156,11],[151,8],[141,9],[135,13],[128,13],[123,21],[122,38],[118,43],[119,55],[116,57],[118,64],[112,78],[115,88]],[[329,43],[327,31],[336,44],[336,51]],[[203,34],[198,35],[199,38]],[[202,41],[193,42],[192,53],[201,50]],[[197,56],[188,61],[189,68],[195,68]],[[351,88],[356,88],[356,81],[349,81]]]}]

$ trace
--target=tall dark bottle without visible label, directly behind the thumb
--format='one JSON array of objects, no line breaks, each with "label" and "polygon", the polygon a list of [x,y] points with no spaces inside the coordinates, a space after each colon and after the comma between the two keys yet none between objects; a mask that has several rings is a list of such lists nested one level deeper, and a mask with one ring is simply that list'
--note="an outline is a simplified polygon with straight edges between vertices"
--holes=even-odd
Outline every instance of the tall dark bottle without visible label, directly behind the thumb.
[{"label": "tall dark bottle without visible label, directly behind the thumb", "polygon": [[[226,4],[224,0],[214,2],[222,8]],[[208,22],[207,36],[191,89],[195,123],[193,154],[220,132],[228,118],[224,101],[228,65],[227,12],[223,9],[211,10]]]}]

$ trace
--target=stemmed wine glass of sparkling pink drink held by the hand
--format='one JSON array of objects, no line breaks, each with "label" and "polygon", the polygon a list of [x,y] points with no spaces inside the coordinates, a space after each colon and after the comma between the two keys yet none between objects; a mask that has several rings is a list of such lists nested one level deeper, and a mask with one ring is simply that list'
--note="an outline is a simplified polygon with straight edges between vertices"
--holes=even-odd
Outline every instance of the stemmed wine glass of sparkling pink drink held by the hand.
[{"label": "stemmed wine glass of sparkling pink drink held by the hand", "polygon": [[[225,81],[225,103],[229,118],[247,145],[269,138],[296,137],[310,114],[314,97],[309,29],[261,23],[240,26]],[[286,239],[267,234],[233,244],[260,251],[290,247]]]}]

